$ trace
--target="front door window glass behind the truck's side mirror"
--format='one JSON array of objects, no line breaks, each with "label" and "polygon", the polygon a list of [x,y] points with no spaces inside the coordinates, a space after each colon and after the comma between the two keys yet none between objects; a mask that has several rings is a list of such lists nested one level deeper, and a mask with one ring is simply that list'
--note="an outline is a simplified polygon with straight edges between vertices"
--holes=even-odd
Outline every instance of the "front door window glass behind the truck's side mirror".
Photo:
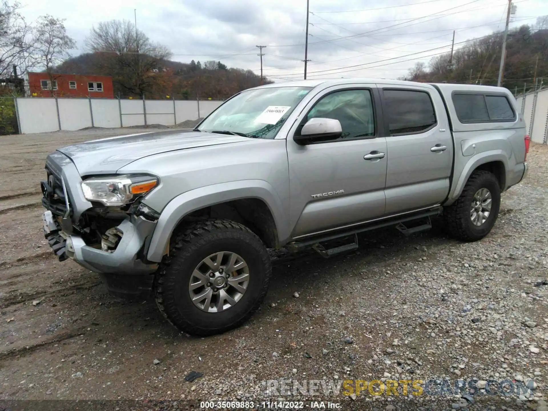
[{"label": "front door window glass behind the truck's side mirror", "polygon": [[311,118],[339,120],[341,139],[375,136],[373,100],[369,90],[343,90],[324,96],[308,113]]}]

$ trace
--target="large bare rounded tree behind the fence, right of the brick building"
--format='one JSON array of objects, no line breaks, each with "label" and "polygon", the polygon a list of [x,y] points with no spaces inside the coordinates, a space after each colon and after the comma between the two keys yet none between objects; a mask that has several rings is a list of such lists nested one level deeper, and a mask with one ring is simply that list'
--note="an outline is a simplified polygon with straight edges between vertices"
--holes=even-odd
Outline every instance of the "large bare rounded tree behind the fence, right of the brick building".
[{"label": "large bare rounded tree behind the fence, right of the brick building", "polygon": [[168,48],[151,42],[127,20],[100,22],[85,43],[91,52],[101,54],[98,70],[111,73],[124,94],[142,96],[154,89],[163,61],[171,56]]}]

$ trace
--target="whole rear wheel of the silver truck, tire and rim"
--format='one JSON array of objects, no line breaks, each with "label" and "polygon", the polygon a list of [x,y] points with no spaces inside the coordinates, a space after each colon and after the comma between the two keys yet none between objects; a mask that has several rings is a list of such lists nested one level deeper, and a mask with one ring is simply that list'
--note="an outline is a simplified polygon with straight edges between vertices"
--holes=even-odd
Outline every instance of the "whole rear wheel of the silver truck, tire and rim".
[{"label": "whole rear wheel of the silver truck, tire and rim", "polygon": [[495,175],[473,172],[463,192],[443,211],[447,231],[462,241],[477,241],[493,228],[500,208],[500,187]]}]

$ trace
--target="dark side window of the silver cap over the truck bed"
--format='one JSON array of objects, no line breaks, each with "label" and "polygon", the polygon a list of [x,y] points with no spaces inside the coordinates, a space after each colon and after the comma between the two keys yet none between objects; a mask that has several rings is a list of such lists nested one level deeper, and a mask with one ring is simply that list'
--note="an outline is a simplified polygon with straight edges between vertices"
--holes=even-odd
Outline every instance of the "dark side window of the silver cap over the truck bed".
[{"label": "dark side window of the silver cap over the truck bed", "polygon": [[455,93],[453,105],[462,123],[514,121],[516,118],[510,102],[504,95]]}]

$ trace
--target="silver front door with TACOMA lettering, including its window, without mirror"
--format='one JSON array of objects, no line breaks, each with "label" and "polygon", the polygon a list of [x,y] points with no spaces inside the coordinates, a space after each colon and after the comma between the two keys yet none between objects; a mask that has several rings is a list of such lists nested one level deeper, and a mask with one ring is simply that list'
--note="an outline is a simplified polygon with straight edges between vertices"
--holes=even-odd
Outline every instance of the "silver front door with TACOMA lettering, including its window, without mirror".
[{"label": "silver front door with TACOMA lettering, including its window, without mirror", "polygon": [[[287,137],[293,238],[382,216],[386,139],[374,85],[330,88],[315,97]],[[299,145],[293,140],[311,118],[334,118],[340,138]]]}]

